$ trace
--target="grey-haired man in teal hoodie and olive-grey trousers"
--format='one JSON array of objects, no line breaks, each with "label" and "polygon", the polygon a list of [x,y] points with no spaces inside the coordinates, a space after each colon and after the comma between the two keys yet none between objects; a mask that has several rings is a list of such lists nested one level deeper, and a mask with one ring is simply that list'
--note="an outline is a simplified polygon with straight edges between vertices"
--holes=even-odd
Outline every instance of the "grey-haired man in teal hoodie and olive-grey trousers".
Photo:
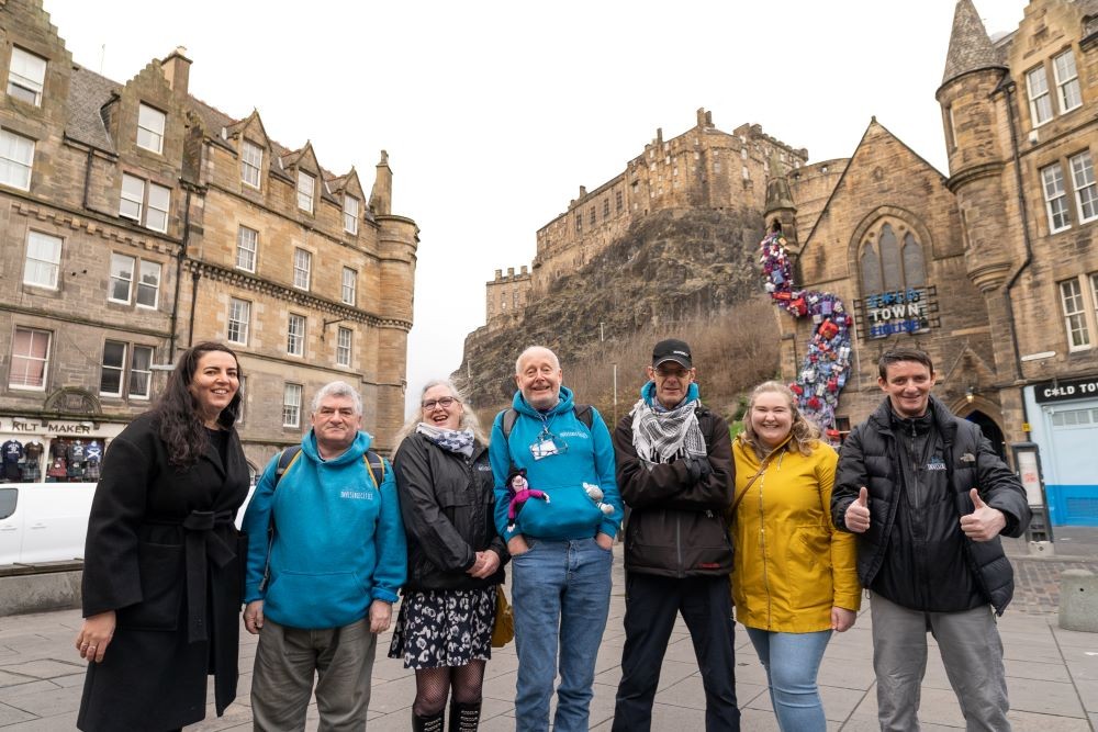
[{"label": "grey-haired man in teal hoodie and olive-grey trousers", "polygon": [[407,551],[396,483],[383,462],[378,485],[361,418],[352,386],[321,387],[301,451],[281,475],[280,455],[271,460],[244,515],[257,730],[304,729],[314,675],[321,728],[366,729],[377,634],[389,628]]}]

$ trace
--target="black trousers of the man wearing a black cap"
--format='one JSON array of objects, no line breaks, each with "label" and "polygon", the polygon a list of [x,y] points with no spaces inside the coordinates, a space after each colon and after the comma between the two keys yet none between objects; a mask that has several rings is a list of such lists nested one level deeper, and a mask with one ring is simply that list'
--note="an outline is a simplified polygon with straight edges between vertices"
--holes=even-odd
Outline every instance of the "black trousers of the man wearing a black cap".
[{"label": "black trousers of the man wearing a black cap", "polygon": [[652,701],[668,641],[682,612],[705,687],[705,729],[740,729],[736,706],[736,657],[732,600],[728,577],[675,579],[650,574],[626,574],[625,650],[621,682],[614,705],[614,732],[638,732],[652,727]]}]

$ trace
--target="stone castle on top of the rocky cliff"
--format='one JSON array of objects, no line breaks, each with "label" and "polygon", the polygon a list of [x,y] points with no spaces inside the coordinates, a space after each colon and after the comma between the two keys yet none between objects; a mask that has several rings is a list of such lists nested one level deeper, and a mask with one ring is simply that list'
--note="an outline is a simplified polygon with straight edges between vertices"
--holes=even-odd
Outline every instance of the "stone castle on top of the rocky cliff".
[{"label": "stone castle on top of the rocky cliff", "polygon": [[697,111],[697,124],[677,137],[664,140],[657,129],[625,171],[590,192],[581,185],[564,213],[538,229],[531,297],[544,296],[556,279],[583,267],[656,211],[761,211],[772,156],[794,169],[808,160],[807,150],[774,139],[757,124],[721,132],[704,109]]}]

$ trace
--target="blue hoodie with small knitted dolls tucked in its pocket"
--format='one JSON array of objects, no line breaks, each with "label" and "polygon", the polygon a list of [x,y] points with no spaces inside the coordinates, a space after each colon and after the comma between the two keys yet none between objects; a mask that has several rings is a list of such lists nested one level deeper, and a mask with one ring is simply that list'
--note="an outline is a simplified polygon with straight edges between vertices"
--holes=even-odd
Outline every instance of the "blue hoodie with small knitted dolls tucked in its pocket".
[{"label": "blue hoodie with small knitted dolls tucked in its pocket", "polygon": [[[512,402],[518,413],[511,437],[503,436],[503,415],[496,415],[492,425],[489,457],[495,478],[495,526],[504,540],[515,534],[536,539],[587,539],[602,532],[617,536],[621,525],[621,497],[614,477],[614,446],[606,423],[594,407],[589,429],[575,416],[572,392],[560,387],[560,401],[546,413],[527,404],[522,392],[515,392]],[[558,446],[567,449],[535,460],[530,446],[548,430]],[[512,466],[525,468],[531,488],[544,491],[549,500],[527,500],[516,518],[513,531],[507,531],[507,508],[511,496],[506,480]],[[603,514],[584,489],[584,483],[597,485],[603,491],[603,503],[614,507],[614,513]]]}]

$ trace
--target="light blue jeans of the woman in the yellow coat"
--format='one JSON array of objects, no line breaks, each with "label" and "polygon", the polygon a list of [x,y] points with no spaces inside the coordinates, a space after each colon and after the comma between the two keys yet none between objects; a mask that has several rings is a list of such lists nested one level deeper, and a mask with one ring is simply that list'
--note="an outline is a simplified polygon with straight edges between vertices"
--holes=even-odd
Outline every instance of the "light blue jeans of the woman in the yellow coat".
[{"label": "light blue jeans of the woman in the yellow coat", "polygon": [[827,721],[816,676],[831,631],[774,633],[748,628],[748,638],[766,668],[777,725],[783,732],[825,732]]}]

